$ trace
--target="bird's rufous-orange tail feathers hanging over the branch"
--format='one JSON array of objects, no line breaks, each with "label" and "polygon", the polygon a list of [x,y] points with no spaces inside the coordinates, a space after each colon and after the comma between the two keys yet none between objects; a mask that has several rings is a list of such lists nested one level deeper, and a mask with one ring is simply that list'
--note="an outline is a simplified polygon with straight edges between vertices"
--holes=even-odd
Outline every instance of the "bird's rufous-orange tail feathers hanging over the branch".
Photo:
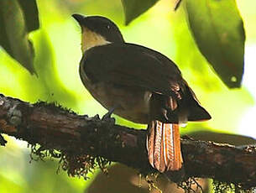
[{"label": "bird's rufous-orange tail feathers hanging over the branch", "polygon": [[179,124],[153,121],[148,129],[149,163],[159,172],[180,170],[183,160]]}]

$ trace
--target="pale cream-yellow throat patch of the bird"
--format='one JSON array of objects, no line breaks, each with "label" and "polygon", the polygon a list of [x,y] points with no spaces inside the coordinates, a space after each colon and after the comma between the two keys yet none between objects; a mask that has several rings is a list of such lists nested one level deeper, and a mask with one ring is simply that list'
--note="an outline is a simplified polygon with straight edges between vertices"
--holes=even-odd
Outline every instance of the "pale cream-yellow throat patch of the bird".
[{"label": "pale cream-yellow throat patch of the bird", "polygon": [[102,35],[92,32],[90,29],[83,28],[81,34],[81,51],[84,53],[86,50],[98,45],[110,44]]}]

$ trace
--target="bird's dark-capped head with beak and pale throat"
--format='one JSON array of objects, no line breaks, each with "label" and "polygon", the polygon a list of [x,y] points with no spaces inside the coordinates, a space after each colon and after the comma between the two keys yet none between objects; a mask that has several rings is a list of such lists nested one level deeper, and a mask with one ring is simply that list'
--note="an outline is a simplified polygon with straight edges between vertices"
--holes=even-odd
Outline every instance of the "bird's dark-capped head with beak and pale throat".
[{"label": "bird's dark-capped head with beak and pale throat", "polygon": [[118,26],[108,18],[86,17],[81,14],[72,16],[81,26],[81,50],[83,53],[94,46],[124,42]]}]

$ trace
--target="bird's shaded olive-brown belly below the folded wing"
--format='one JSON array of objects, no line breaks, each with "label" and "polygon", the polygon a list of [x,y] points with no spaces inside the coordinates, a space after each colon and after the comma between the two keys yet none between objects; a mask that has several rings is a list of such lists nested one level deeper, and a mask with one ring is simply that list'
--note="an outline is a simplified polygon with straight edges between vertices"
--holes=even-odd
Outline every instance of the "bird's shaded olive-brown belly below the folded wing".
[{"label": "bird's shaded olive-brown belly below the folded wing", "polygon": [[109,82],[91,83],[83,79],[83,84],[97,102],[107,110],[116,107],[114,114],[134,123],[149,122],[150,91],[134,86],[119,86]]}]

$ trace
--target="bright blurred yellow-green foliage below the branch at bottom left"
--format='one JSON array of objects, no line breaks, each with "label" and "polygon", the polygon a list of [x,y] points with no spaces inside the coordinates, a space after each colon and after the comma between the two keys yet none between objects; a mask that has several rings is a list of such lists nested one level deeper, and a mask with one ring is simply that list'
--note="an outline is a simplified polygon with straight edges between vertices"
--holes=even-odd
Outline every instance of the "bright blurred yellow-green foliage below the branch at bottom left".
[{"label": "bright blurred yellow-green foliage below the branch at bottom left", "polygon": [[[12,142],[13,138],[8,138]],[[66,173],[57,174],[55,160],[31,161],[28,149],[20,149],[24,143],[8,143],[8,149],[0,149],[0,192],[81,192],[86,185],[84,180],[68,178]],[[31,161],[31,163],[30,163]]]}]

